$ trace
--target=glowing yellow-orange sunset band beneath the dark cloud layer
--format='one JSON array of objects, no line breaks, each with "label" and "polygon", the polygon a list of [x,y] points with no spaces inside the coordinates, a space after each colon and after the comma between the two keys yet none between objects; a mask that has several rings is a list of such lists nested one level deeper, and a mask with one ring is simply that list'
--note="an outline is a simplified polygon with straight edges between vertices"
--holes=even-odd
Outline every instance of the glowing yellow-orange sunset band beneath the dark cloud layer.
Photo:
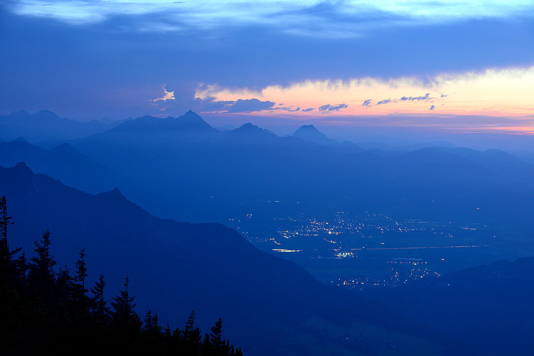
[{"label": "glowing yellow-orange sunset band beneath the dark cloud layer", "polygon": [[[322,117],[325,113],[428,113],[430,105],[437,108],[444,102],[446,107],[439,108],[439,112],[443,114],[521,116],[532,113],[532,96],[525,90],[532,83],[534,66],[488,69],[480,73],[443,73],[425,81],[418,77],[390,78],[387,81],[378,77],[361,77],[350,81],[306,80],[285,86],[272,84],[254,89],[247,86],[223,88],[217,84],[206,84],[197,90],[196,95],[200,98],[213,96],[217,100],[262,98],[277,103],[284,102],[282,107],[300,107],[300,113],[307,113],[303,108],[318,108],[315,111],[317,117]],[[442,98],[441,95],[447,92],[451,94]],[[413,93],[412,96],[406,95],[409,93]],[[377,102],[376,98],[382,99]],[[366,104],[367,100],[371,100],[370,106],[362,107],[362,103]],[[331,104],[324,104],[325,102]],[[273,113],[276,114],[277,111],[282,113],[282,110],[273,110]],[[299,115],[292,114],[295,117]]]}]

